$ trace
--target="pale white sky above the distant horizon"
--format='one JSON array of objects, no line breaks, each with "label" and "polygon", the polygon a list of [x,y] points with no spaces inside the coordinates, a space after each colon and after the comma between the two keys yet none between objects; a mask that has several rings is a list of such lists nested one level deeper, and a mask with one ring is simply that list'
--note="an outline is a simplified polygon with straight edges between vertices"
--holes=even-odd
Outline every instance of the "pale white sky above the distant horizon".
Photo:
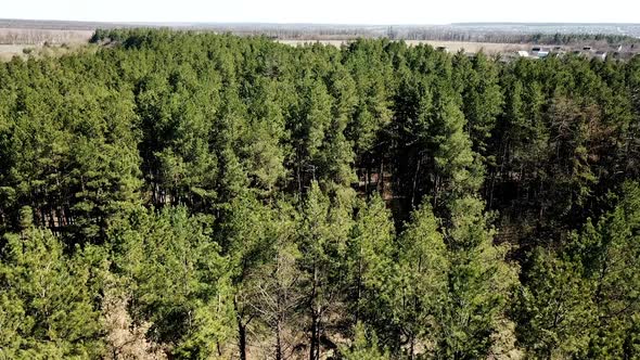
[{"label": "pale white sky above the distant horizon", "polygon": [[0,18],[104,22],[640,23],[640,0],[0,0]]}]

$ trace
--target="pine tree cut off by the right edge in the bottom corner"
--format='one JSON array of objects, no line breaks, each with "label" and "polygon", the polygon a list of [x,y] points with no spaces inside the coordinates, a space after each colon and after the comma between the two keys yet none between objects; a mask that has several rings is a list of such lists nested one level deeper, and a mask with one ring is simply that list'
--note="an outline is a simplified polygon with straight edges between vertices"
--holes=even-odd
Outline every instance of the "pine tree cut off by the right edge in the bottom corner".
[{"label": "pine tree cut off by the right edge in the bottom corner", "polygon": [[576,244],[598,309],[588,357],[631,359],[640,356],[640,187],[626,182],[609,200],[617,205],[587,222]]}]

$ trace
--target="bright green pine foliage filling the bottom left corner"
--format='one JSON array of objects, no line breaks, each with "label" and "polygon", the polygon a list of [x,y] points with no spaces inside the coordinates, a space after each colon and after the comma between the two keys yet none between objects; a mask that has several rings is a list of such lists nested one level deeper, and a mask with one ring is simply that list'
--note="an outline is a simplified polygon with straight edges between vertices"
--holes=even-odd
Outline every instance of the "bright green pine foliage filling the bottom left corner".
[{"label": "bright green pine foliage filling the bottom left corner", "polygon": [[64,254],[63,244],[49,230],[27,221],[21,233],[3,237],[0,357],[101,356],[101,322],[94,296],[104,263],[91,248],[78,249],[74,256]]}]

